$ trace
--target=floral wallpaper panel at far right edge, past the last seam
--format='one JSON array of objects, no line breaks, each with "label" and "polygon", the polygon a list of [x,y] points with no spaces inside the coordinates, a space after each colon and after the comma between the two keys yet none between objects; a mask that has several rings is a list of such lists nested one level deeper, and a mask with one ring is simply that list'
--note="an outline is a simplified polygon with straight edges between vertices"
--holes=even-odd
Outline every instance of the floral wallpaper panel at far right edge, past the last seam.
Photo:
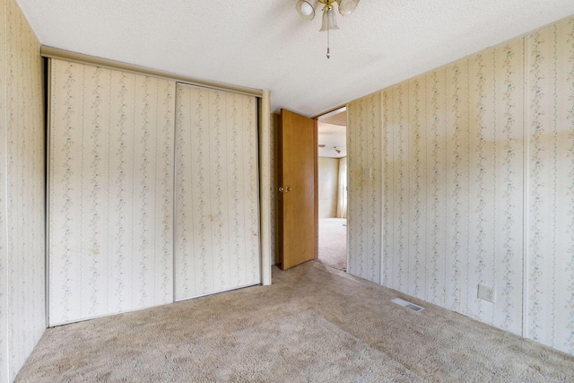
[{"label": "floral wallpaper panel at far right edge, past the last seam", "polygon": [[574,18],[526,39],[526,335],[574,354]]}]

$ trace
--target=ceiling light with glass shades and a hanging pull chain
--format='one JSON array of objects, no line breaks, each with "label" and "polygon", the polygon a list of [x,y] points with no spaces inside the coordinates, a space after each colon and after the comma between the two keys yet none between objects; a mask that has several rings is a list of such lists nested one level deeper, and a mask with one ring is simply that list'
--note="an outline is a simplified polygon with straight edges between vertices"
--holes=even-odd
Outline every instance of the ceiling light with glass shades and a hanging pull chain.
[{"label": "ceiling light with glass shades and a hanging pull chain", "polygon": [[323,5],[323,22],[320,31],[326,31],[326,58],[331,57],[329,49],[329,30],[338,30],[337,19],[335,17],[335,4],[339,8],[339,13],[342,16],[354,12],[357,4],[361,0],[299,0],[295,5],[295,9],[304,20],[313,20],[315,18],[315,11],[317,5]]}]

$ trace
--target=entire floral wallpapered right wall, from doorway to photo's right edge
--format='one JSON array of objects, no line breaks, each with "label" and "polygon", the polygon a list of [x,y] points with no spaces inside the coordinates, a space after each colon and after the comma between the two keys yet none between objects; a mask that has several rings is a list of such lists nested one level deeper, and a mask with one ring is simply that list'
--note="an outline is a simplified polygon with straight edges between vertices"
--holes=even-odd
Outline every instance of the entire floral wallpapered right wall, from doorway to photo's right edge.
[{"label": "entire floral wallpapered right wall, from doorway to photo's right edge", "polygon": [[350,143],[384,132],[384,189],[363,196],[352,152],[350,272],[377,282],[370,222],[386,286],[574,353],[572,57],[574,19],[381,91],[382,125],[358,118],[377,96],[353,102]]}]

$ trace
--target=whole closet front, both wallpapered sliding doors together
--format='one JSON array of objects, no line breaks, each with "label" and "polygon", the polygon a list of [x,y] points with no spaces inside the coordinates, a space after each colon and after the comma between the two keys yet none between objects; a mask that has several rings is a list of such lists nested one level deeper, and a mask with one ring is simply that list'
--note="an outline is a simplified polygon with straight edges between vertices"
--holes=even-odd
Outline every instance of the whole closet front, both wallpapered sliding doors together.
[{"label": "whole closet front, both wallpapered sliding doors together", "polygon": [[257,99],[49,63],[49,326],[260,283]]}]

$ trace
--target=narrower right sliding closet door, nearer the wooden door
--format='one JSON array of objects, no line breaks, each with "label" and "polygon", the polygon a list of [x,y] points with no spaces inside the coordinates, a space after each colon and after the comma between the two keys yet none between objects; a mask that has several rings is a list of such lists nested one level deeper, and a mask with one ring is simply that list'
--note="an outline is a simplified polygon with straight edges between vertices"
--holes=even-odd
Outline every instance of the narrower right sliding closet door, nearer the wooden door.
[{"label": "narrower right sliding closet door, nearer the wooden door", "polygon": [[178,84],[176,300],[260,283],[256,99]]}]

